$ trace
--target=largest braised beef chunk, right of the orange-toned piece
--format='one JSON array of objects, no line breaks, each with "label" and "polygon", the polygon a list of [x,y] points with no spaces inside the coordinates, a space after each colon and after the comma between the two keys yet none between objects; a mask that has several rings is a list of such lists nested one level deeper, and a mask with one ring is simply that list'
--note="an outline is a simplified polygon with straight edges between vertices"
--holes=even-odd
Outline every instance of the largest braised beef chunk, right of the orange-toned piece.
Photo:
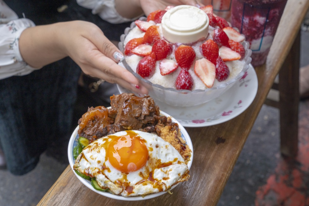
[{"label": "largest braised beef chunk, right of the orange-toned piece", "polygon": [[117,110],[114,124],[125,129],[139,130],[158,122],[160,110],[150,96],[136,97],[134,94],[113,95],[112,110]]}]

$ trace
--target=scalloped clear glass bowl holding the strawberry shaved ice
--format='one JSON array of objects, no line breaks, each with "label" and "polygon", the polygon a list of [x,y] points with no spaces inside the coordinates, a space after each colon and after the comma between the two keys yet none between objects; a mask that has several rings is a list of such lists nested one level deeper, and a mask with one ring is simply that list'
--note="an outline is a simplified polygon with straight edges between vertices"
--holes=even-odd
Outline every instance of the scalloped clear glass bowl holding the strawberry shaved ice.
[{"label": "scalloped clear glass bowl holding the strawberry shaved ice", "polygon": [[[146,20],[145,17],[140,18],[140,20]],[[135,23],[132,22],[130,27],[125,29],[124,34],[120,37],[119,49],[121,52],[124,52],[124,41],[127,34],[135,27]],[[142,84],[149,90],[149,95],[155,101],[161,101],[168,105],[180,106],[180,107],[190,107],[203,104],[205,102],[211,101],[216,97],[219,97],[224,92],[226,92],[229,88],[231,88],[236,81],[238,81],[244,73],[248,70],[249,64],[251,62],[251,53],[252,51],[249,49],[249,43],[247,41],[243,42],[243,46],[246,50],[245,57],[243,61],[245,62],[242,70],[238,75],[234,78],[229,79],[228,81],[219,84],[216,87],[207,88],[205,90],[196,89],[196,90],[177,90],[174,88],[166,88],[159,84],[153,84],[149,80],[142,78],[138,73],[134,72],[132,68],[127,64],[124,60],[122,63],[124,67],[130,71],[134,76],[136,76]]]}]

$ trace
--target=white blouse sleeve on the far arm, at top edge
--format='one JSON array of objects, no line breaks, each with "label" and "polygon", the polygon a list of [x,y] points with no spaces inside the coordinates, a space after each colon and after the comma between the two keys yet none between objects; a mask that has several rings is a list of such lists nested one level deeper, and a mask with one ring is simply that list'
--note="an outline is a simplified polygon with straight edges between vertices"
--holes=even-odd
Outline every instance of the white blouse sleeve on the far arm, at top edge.
[{"label": "white blouse sleeve on the far arm, at top edge", "polygon": [[92,14],[99,15],[105,21],[112,24],[119,24],[129,21],[134,21],[140,16],[133,19],[122,17],[115,8],[115,0],[76,0],[76,2],[87,9],[92,10]]}]

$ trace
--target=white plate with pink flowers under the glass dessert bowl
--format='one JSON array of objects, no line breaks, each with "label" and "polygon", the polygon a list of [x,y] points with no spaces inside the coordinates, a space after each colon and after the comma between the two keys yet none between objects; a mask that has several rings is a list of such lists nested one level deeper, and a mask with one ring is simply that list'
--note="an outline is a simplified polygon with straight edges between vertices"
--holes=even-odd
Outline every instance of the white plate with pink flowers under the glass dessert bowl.
[{"label": "white plate with pink flowers under the glass dessert bowl", "polygon": [[[129,90],[117,85],[120,93]],[[252,103],[258,88],[257,76],[252,65],[243,77],[227,92],[212,101],[194,107],[176,107],[156,101],[160,110],[167,112],[184,127],[206,127],[237,117]]]}]

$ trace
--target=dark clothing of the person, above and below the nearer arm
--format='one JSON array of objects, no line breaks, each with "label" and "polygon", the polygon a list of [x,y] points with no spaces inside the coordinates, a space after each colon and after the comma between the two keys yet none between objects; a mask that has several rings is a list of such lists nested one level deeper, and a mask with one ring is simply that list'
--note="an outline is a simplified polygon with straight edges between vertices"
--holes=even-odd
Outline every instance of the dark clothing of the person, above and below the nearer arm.
[{"label": "dark clothing of the person, above and below the nearer arm", "polygon": [[[93,22],[110,40],[119,41],[130,24],[109,24],[75,0],[5,2],[19,17],[24,14],[36,25],[77,19]],[[68,9],[58,13],[63,4]],[[0,144],[12,174],[31,171],[45,150],[67,160],[80,72],[70,58],[65,58],[28,75],[0,80]]]}]

